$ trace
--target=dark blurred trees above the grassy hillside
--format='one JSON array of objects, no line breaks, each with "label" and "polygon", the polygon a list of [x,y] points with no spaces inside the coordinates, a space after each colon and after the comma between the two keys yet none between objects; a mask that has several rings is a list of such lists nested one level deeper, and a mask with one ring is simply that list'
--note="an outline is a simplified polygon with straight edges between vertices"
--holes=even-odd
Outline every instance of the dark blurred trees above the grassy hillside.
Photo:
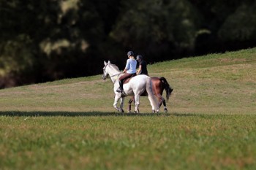
[{"label": "dark blurred trees above the grassy hillside", "polygon": [[254,47],[252,0],[0,0],[0,88]]}]

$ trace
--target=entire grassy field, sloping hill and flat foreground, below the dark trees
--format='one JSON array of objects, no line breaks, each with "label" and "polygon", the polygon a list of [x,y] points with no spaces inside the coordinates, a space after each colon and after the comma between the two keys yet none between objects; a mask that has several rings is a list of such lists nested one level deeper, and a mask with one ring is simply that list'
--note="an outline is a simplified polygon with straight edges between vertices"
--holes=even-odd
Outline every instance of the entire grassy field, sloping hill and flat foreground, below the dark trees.
[{"label": "entire grassy field, sloping hill and flat foreground, below the dark trees", "polygon": [[168,113],[116,112],[101,75],[0,90],[0,169],[255,169],[256,48],[148,72],[174,89]]}]

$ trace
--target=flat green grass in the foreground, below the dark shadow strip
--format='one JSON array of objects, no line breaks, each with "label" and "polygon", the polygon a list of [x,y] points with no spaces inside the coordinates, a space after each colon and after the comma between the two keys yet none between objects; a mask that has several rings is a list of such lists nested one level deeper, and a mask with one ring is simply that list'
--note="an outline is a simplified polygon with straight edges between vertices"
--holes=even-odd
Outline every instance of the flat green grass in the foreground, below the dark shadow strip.
[{"label": "flat green grass in the foreground, below the dark shadow strip", "polygon": [[4,116],[4,169],[253,169],[256,115]]}]

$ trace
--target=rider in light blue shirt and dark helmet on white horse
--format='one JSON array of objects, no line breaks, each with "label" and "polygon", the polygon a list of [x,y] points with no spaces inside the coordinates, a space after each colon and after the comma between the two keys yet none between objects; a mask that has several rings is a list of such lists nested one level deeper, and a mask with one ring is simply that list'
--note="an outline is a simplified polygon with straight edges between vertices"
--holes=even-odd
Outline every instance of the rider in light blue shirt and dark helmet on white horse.
[{"label": "rider in light blue shirt and dark helmet on white horse", "polygon": [[119,85],[120,87],[116,90],[118,93],[122,93],[123,92],[123,83],[124,83],[124,80],[129,78],[129,77],[132,77],[133,75],[136,74],[136,66],[137,66],[137,61],[135,60],[134,58],[134,54],[132,51],[129,51],[127,53],[128,55],[128,58],[127,59],[127,64],[124,68],[124,75],[122,75],[121,77],[119,77]]}]

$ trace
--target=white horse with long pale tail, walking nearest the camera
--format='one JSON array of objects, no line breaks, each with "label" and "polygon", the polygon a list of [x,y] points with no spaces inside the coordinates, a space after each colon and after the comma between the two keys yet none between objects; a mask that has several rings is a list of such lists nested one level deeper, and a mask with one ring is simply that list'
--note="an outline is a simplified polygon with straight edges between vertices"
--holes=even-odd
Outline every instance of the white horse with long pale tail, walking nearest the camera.
[{"label": "white horse with long pale tail, walking nearest the camera", "polygon": [[[153,112],[159,112],[159,105],[151,88],[152,82],[150,77],[146,75],[132,77],[127,84],[124,84],[124,93],[118,93],[116,92],[116,89],[119,87],[118,77],[120,77],[123,73],[120,72],[115,64],[110,63],[110,61],[108,61],[108,63],[104,61],[104,64],[105,66],[103,68],[102,79],[106,80],[109,75],[114,83],[114,93],[116,96],[113,107],[117,109],[118,112],[124,112],[123,106],[125,96],[135,96],[135,112],[139,112],[140,94],[142,94],[145,90],[148,93],[148,99]],[[121,99],[120,108],[117,107],[119,99]]]}]

